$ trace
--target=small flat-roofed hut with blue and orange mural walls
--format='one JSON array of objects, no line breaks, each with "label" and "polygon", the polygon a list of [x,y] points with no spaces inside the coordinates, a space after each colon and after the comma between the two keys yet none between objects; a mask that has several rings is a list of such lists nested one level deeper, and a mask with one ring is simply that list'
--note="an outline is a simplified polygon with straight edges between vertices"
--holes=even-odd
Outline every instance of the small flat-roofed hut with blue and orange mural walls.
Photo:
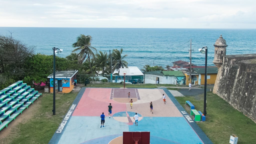
[{"label": "small flat-roofed hut with blue and orange mural walls", "polygon": [[[56,71],[55,72],[55,91],[69,93],[74,88],[74,79],[78,70]],[[50,92],[53,92],[53,73],[47,78],[50,79]]]}]

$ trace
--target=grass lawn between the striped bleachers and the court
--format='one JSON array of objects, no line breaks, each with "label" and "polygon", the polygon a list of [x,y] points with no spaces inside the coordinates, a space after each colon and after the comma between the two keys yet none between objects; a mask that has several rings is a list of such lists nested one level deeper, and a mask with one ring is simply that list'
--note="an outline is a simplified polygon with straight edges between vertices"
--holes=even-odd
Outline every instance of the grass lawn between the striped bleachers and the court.
[{"label": "grass lawn between the striped bleachers and the court", "polygon": [[[53,94],[43,93],[43,95],[34,102],[34,105],[37,106],[36,109],[33,110],[33,114],[26,113],[26,110],[31,111],[30,108],[33,105],[30,105],[29,108],[24,110],[23,114],[18,116],[15,121],[23,115],[29,116],[28,120],[19,122],[16,128],[12,129],[10,135],[0,139],[0,143],[48,143],[77,94],[78,92],[70,92],[68,94],[56,93],[56,115],[53,116]],[[11,126],[8,126],[8,128],[11,128]]]}]

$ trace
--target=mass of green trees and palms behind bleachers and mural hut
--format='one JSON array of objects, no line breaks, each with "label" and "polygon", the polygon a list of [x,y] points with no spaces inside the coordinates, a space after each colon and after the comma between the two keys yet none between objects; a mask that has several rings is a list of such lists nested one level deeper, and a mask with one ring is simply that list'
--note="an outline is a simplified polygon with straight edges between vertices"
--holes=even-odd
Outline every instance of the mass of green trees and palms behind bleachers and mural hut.
[{"label": "mass of green trees and palms behind bleachers and mural hut", "polygon": [[[97,53],[91,46],[92,37],[80,35],[72,46],[73,52],[66,58],[56,56],[56,70],[78,70],[79,74],[110,74],[110,56],[107,52]],[[18,80],[33,86],[33,82],[47,81],[53,73],[53,55],[34,54],[35,46],[27,46],[11,36],[0,36],[0,88],[3,89]],[[95,52],[95,54],[94,54]],[[112,70],[127,67],[122,56],[123,49],[113,49]]]}]

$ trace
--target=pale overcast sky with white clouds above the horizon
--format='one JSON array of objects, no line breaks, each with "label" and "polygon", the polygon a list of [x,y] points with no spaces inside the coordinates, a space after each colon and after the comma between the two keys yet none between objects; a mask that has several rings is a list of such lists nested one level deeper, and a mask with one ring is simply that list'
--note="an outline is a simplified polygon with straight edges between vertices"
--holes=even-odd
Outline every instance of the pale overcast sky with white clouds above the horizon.
[{"label": "pale overcast sky with white clouds above the horizon", "polygon": [[1,27],[256,28],[255,0],[0,0]]}]

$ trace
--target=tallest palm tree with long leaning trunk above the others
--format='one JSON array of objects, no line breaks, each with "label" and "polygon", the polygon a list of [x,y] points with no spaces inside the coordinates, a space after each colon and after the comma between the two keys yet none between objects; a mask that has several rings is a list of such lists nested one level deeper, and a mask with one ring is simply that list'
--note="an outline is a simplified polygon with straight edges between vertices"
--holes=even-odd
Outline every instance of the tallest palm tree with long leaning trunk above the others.
[{"label": "tallest palm tree with long leaning trunk above the others", "polygon": [[78,48],[75,48],[72,52],[76,52],[80,50],[80,52],[78,53],[78,60],[80,64],[82,64],[86,56],[88,56],[87,59],[89,60],[89,66],[91,69],[91,73],[93,74],[90,56],[92,55],[94,57],[94,53],[92,52],[92,50],[95,50],[97,53],[97,49],[91,46],[91,39],[92,39],[91,36],[89,35],[85,36],[81,34],[79,37],[77,37],[77,42],[73,43],[72,45],[73,47],[78,47]]}]

